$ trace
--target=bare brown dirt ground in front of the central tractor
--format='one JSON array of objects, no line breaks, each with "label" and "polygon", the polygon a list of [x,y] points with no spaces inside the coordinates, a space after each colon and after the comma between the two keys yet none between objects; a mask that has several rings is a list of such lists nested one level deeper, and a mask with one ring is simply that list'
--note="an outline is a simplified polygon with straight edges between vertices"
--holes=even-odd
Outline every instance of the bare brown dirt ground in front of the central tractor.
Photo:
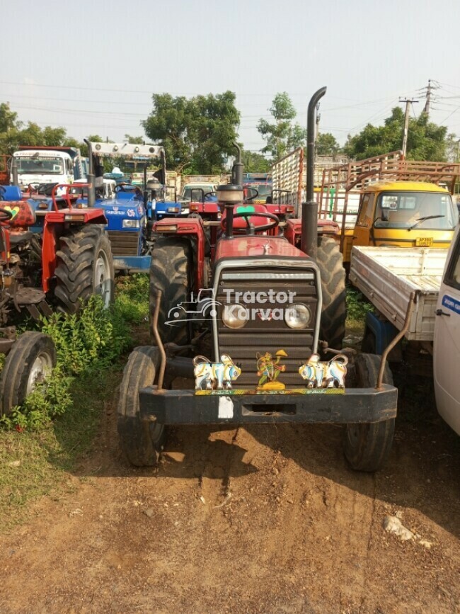
[{"label": "bare brown dirt ground in front of the central tractor", "polygon": [[460,612],[460,446],[434,411],[373,476],[319,425],[176,428],[134,470],[115,407],[73,492],[0,538],[2,614]]}]

